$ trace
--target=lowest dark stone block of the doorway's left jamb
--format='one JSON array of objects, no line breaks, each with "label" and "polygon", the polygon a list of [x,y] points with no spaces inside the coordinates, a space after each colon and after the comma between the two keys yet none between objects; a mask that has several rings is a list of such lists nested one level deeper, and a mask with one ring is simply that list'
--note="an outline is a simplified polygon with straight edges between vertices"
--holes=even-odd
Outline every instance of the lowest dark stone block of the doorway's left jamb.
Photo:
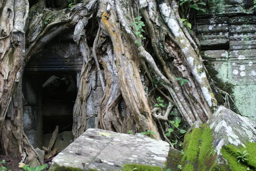
[{"label": "lowest dark stone block of the doorway's left jamb", "polygon": [[25,132],[29,139],[29,142],[34,148],[42,148],[43,146],[43,131],[42,130],[30,130]]}]

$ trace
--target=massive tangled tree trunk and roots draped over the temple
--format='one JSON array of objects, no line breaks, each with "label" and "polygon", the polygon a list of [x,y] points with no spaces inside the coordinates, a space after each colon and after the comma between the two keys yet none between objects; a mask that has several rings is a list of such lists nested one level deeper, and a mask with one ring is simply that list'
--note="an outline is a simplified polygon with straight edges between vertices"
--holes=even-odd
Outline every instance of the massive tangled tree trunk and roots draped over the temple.
[{"label": "massive tangled tree trunk and roots draped over the temple", "polygon": [[[87,98],[95,89],[96,78],[104,92],[99,108],[94,109],[99,128],[122,133],[151,130],[160,139],[164,131],[157,120],[168,120],[171,106],[190,126],[195,121],[206,122],[217,104],[197,45],[180,21],[178,3],[84,0],[70,8],[50,11],[45,0],[39,0],[30,9],[28,1],[0,1],[0,125],[5,153],[12,152],[10,148],[16,145],[18,157],[26,146],[17,137],[23,135],[22,121],[17,122],[22,118],[21,84],[14,94],[26,62],[73,25],[73,39],[84,58],[73,110],[75,138],[86,130]],[[87,37],[92,35],[86,35],[86,29],[95,16],[98,25],[91,27],[97,29],[97,34],[91,48]],[[140,30],[138,34],[136,30],[135,18],[139,16],[145,23],[145,33]],[[181,85],[180,80],[184,79],[188,81]],[[157,96],[167,100],[166,106],[154,107]],[[159,110],[167,111],[166,115],[161,116]],[[14,137],[16,144],[9,137]],[[29,148],[32,150],[25,150],[27,153],[33,151]]]}]

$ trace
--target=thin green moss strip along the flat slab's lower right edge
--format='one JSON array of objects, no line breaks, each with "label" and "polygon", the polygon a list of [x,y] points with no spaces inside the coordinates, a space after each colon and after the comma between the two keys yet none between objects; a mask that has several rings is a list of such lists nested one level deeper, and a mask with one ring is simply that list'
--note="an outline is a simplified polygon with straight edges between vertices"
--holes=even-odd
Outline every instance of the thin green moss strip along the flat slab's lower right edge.
[{"label": "thin green moss strip along the flat slab's lower right edge", "polygon": [[123,166],[124,171],[133,171],[134,168],[137,168],[136,171],[163,171],[162,168],[151,165],[125,164]]}]

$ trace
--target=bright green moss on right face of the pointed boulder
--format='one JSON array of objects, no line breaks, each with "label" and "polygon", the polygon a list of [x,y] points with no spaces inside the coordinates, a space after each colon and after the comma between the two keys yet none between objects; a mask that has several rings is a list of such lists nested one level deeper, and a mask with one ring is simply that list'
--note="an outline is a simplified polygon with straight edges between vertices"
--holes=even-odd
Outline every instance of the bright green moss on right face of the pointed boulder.
[{"label": "bright green moss on right face of the pointed boulder", "polygon": [[[237,151],[247,150],[248,155],[245,157],[247,160],[244,162],[238,162],[237,157],[241,156]],[[256,169],[256,143],[248,142],[245,147],[241,146],[236,148],[234,145],[223,146],[221,149],[221,154],[224,159],[227,160],[228,165],[232,171],[246,171],[246,168]]]}]

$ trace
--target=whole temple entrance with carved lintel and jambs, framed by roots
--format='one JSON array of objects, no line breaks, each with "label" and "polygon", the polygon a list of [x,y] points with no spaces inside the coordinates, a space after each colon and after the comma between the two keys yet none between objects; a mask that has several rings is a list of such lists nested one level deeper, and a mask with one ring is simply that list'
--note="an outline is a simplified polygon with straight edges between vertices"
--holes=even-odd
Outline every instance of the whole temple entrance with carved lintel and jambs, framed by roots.
[{"label": "whole temple entrance with carved lintel and jambs, framed by roots", "polygon": [[47,147],[58,125],[54,148],[73,142],[73,107],[83,58],[73,40],[56,38],[32,56],[23,74],[23,126],[31,144]]}]

